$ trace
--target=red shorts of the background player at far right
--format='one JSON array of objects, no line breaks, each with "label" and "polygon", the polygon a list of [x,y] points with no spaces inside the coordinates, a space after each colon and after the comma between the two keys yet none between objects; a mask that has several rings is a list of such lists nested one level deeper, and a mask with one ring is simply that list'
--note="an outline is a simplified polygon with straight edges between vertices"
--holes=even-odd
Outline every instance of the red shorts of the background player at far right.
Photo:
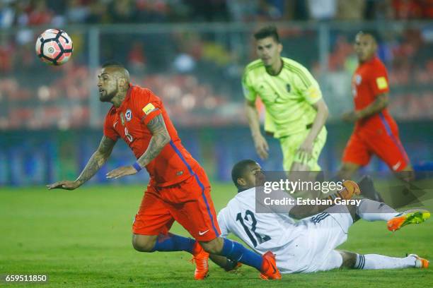
[{"label": "red shorts of the background player at far right", "polygon": [[365,166],[371,155],[377,155],[394,172],[402,171],[409,164],[408,155],[398,138],[398,128],[383,126],[373,131],[357,129],[350,136],[342,162]]}]

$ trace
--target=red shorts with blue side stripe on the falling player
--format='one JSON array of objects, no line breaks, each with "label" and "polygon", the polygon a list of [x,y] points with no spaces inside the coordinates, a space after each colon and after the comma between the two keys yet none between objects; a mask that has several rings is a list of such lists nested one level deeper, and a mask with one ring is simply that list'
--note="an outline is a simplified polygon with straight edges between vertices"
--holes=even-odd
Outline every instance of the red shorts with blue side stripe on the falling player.
[{"label": "red shorts with blue side stripe on the falling player", "polygon": [[211,241],[221,234],[209,180],[201,167],[193,176],[173,186],[147,186],[132,232],[167,234],[175,220],[197,241]]}]

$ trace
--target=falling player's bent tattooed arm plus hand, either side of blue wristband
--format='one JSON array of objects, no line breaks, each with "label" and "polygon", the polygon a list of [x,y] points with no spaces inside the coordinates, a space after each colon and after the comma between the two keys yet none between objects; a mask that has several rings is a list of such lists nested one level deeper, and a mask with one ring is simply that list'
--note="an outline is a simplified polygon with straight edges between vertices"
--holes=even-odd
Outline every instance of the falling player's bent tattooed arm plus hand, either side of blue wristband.
[{"label": "falling player's bent tattooed arm plus hand, either side of blue wristband", "polygon": [[[154,119],[149,121],[147,128],[152,133],[152,138],[149,146],[141,157],[137,160],[140,167],[146,167],[149,162],[158,156],[159,152],[170,142],[170,135],[168,134],[166,123],[164,122],[162,114],[159,114]],[[132,166],[120,167],[107,173],[107,178],[120,178],[122,176],[134,175],[137,169]]]}]

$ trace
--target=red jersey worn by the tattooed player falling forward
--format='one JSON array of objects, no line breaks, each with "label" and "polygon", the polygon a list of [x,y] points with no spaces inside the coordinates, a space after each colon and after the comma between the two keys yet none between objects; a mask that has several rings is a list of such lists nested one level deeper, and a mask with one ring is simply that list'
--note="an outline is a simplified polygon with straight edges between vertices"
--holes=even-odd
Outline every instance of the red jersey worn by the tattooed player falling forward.
[{"label": "red jersey worn by the tattooed player falling forward", "polygon": [[146,151],[152,134],[147,128],[151,119],[163,115],[171,141],[147,166],[150,184],[171,186],[192,176],[200,164],[180,143],[178,132],[159,97],[151,90],[131,86],[119,108],[114,106],[105,116],[104,135],[112,140],[121,137],[137,159]]}]

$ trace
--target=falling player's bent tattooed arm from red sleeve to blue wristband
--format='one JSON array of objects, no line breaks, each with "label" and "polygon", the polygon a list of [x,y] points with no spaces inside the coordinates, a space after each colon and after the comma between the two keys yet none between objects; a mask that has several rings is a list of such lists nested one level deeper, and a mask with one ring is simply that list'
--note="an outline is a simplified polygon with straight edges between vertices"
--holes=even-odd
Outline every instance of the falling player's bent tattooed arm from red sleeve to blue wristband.
[{"label": "falling player's bent tattooed arm from red sleeve to blue wristband", "polygon": [[166,123],[164,122],[162,114],[159,114],[154,119],[149,121],[147,128],[152,133],[152,138],[149,142],[149,146],[141,157],[137,160],[141,167],[146,167],[163,148],[170,142],[170,134],[168,134]]}]

